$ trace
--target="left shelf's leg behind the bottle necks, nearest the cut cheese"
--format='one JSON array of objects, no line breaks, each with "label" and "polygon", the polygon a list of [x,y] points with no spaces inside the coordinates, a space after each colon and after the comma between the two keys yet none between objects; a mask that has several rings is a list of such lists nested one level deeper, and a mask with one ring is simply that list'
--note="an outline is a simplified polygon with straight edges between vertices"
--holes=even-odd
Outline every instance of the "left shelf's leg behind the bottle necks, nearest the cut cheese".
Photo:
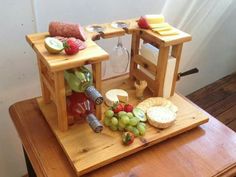
[{"label": "left shelf's leg behind the bottle necks, nearest the cut cheese", "polygon": [[[102,75],[101,75],[101,63],[92,64],[93,69],[93,79],[94,79],[94,86],[96,89],[101,92],[101,82],[102,82]],[[96,116],[98,119],[102,117],[102,106],[96,105]]]}]

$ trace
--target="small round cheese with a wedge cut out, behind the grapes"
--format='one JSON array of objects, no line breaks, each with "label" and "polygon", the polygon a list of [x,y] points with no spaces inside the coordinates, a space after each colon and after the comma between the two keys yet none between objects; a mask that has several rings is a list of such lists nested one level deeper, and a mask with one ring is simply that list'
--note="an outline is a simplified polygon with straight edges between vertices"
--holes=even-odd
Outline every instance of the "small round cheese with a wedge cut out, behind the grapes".
[{"label": "small round cheese with a wedge cut out, behind the grapes", "polygon": [[111,89],[105,94],[105,103],[107,106],[113,106],[117,102],[128,102],[128,93],[122,89]]}]

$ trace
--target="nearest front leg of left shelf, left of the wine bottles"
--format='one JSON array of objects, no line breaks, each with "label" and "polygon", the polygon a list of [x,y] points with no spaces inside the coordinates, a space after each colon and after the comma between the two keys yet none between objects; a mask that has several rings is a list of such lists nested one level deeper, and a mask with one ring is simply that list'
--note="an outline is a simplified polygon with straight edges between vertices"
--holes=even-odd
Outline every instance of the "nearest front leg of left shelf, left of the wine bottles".
[{"label": "nearest front leg of left shelf, left of the wine bottles", "polygon": [[68,129],[68,119],[66,110],[66,92],[64,83],[64,71],[55,73],[55,102],[57,106],[58,128],[61,131]]}]

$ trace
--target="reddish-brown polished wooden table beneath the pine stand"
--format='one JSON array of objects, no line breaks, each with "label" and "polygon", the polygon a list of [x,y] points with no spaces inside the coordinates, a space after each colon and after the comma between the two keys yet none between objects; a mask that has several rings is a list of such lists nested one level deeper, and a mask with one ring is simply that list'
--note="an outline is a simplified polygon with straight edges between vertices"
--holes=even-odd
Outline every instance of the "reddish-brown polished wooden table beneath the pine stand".
[{"label": "reddish-brown polished wooden table beneath the pine stand", "polygon": [[[28,167],[32,164],[38,177],[76,176],[35,99],[12,105],[10,114]],[[207,124],[85,176],[236,176],[236,134],[210,117]]]}]

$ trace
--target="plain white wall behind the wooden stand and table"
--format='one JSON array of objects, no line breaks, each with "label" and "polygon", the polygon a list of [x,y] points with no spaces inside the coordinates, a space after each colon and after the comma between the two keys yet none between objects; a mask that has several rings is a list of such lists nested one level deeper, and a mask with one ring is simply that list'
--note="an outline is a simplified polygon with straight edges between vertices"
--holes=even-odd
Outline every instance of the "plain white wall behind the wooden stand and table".
[{"label": "plain white wall behind the wooden stand and table", "polygon": [[[229,2],[229,0],[220,1]],[[183,19],[188,21],[191,18],[180,13],[191,8],[191,3],[188,2],[199,1],[139,0],[138,3],[134,0],[2,1],[0,6],[0,177],[18,177],[26,172],[20,140],[9,117],[8,107],[18,100],[40,95],[36,59],[25,41],[25,34],[47,31],[51,20],[79,22],[86,25],[160,12],[164,12],[169,22],[181,26]],[[183,3],[187,5],[184,6]],[[217,23],[204,40],[199,42],[199,33],[193,31],[193,41],[185,44],[181,71],[197,66],[200,73],[183,78],[179,82],[178,89],[182,93],[190,93],[236,70],[235,5],[236,1],[232,1],[227,11],[219,17],[220,23]],[[207,19],[208,16],[206,16],[206,27],[211,24]],[[191,25],[185,30],[191,33],[190,29]],[[199,29],[204,35],[205,30]],[[127,48],[129,48],[129,39],[125,39]],[[99,41],[107,51],[111,51],[115,43],[116,40]]]}]

